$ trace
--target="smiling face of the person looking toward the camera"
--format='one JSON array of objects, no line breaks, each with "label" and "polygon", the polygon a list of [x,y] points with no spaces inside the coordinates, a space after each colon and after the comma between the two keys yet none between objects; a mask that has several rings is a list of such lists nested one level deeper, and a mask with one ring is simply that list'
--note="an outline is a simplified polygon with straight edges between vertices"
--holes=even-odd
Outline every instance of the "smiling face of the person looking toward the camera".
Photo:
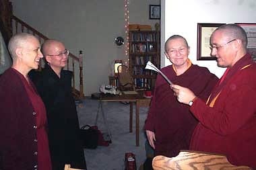
[{"label": "smiling face of the person looking toward the camera", "polygon": [[166,42],[166,57],[175,67],[181,67],[187,64],[189,56],[189,46],[183,38],[175,38]]}]

